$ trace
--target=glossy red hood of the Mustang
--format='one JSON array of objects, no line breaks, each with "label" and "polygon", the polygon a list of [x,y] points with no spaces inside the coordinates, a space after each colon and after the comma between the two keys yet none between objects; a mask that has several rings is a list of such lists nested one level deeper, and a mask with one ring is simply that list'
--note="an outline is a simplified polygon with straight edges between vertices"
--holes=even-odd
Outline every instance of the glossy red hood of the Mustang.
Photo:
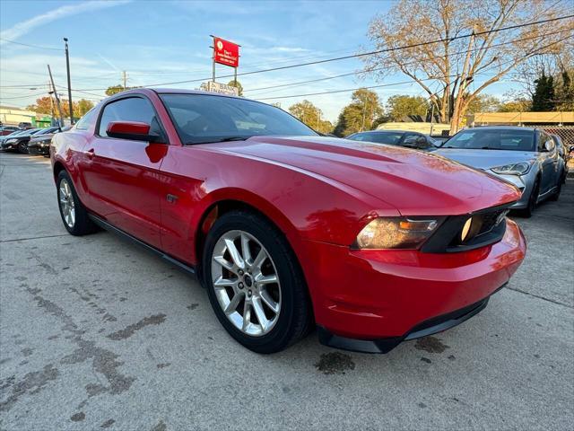
[{"label": "glossy red hood of the Mustang", "polygon": [[396,207],[405,216],[465,214],[520,197],[508,183],[436,152],[393,145],[324,136],[256,136],[201,146],[338,181]]}]

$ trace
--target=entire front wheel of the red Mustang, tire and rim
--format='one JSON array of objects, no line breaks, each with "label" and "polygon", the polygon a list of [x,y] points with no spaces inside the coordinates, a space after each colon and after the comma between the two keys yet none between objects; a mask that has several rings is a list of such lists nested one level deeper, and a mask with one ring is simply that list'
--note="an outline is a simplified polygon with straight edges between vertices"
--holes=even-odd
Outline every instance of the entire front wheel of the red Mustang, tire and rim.
[{"label": "entire front wheel of the red Mustang, tire and rim", "polygon": [[203,268],[213,311],[248,349],[274,353],[309,330],[309,295],[299,263],[264,217],[232,211],[219,218],[206,238]]}]

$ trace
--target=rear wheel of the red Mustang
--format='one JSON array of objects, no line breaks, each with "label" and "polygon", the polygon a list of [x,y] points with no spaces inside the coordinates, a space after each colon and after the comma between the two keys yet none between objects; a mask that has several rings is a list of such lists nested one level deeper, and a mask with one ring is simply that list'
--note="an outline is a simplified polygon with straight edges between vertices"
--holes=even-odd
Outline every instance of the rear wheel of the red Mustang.
[{"label": "rear wheel of the red Mustang", "polygon": [[69,233],[81,236],[96,231],[96,225],[90,220],[68,172],[65,171],[57,176],[57,201],[62,222]]}]

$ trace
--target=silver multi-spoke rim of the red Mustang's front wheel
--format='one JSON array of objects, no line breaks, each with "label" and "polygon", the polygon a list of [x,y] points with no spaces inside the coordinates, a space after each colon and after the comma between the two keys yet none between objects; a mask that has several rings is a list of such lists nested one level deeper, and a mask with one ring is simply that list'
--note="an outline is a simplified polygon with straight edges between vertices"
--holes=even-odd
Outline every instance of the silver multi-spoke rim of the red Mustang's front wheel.
[{"label": "silver multi-spoke rim of the red Mustang's front wheel", "polygon": [[281,312],[281,284],[273,259],[244,231],[224,233],[212,254],[213,291],[222,312],[241,332],[260,337]]}]

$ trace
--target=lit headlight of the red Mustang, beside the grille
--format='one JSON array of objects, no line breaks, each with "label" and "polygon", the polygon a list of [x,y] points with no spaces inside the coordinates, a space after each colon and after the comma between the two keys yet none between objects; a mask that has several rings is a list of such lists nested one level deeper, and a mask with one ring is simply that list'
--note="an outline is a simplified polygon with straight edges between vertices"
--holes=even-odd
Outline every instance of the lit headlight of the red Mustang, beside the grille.
[{"label": "lit headlight of the red Mustang, beside the grille", "polygon": [[379,217],[361,230],[353,245],[359,249],[417,249],[440,222],[438,218]]}]

